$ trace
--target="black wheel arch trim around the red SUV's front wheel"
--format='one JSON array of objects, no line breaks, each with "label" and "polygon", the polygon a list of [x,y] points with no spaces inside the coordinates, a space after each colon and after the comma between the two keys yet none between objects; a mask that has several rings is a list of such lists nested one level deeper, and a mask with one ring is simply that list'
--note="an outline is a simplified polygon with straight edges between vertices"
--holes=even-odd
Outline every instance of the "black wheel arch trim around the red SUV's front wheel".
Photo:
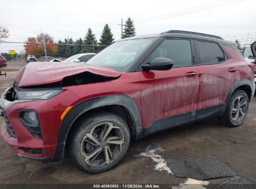
[{"label": "black wheel arch trim around the red SUV's front wheel", "polygon": [[79,118],[82,114],[90,111],[91,109],[110,105],[123,106],[128,111],[133,121],[133,126],[136,134],[135,137],[136,139],[140,139],[142,137],[140,113],[133,99],[124,94],[110,94],[106,96],[98,96],[76,104],[65,115],[59,128],[54,160],[61,161],[64,158],[65,142],[69,134],[69,130],[72,127],[73,122],[75,122],[77,118]]}]

